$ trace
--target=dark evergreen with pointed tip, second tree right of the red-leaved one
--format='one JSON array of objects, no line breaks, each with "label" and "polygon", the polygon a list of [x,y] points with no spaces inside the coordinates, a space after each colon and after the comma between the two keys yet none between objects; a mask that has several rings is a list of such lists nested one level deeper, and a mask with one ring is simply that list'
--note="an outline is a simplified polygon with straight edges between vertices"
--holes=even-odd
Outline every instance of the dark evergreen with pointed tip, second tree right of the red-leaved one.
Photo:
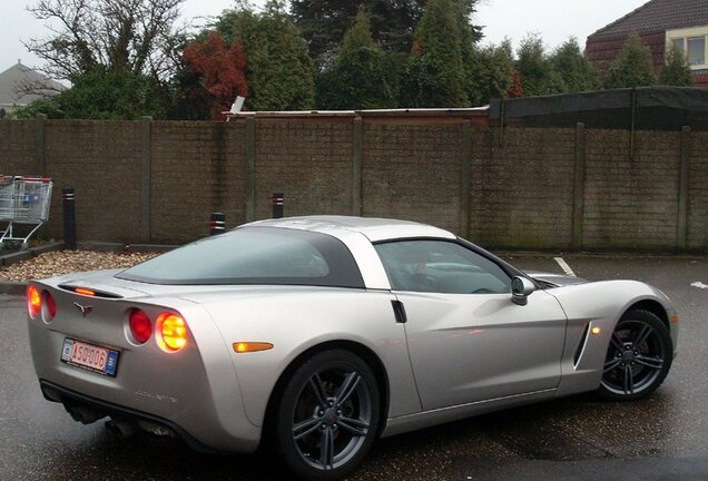
[{"label": "dark evergreen with pointed tip, second tree right of the red-leaved one", "polygon": [[317,78],[317,107],[324,109],[393,108],[397,78],[392,62],[374,41],[362,9],[344,36],[334,67]]}]

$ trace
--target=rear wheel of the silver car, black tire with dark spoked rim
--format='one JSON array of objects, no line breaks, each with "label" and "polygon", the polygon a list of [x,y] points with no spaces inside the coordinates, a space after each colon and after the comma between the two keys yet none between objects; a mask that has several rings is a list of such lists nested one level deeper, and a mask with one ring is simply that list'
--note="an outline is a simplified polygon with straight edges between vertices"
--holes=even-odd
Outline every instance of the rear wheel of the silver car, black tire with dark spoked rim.
[{"label": "rear wheel of the silver car, black tire with dark spoked rim", "polygon": [[376,436],[380,394],[371,367],[343,350],[315,354],[293,372],[277,404],[277,448],[306,480],[340,479]]}]

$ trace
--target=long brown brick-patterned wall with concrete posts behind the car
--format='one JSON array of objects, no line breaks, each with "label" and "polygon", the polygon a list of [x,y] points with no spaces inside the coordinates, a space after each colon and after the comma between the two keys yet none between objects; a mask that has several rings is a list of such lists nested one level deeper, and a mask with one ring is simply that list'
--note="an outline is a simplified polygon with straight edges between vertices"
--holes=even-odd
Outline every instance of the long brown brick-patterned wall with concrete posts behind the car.
[{"label": "long brown brick-patterned wall with concrete posts behind the car", "polygon": [[76,188],[79,240],[185,243],[286,215],[421,220],[488,246],[708,247],[708,132],[485,127],[458,117],[0,122],[0,174]]}]

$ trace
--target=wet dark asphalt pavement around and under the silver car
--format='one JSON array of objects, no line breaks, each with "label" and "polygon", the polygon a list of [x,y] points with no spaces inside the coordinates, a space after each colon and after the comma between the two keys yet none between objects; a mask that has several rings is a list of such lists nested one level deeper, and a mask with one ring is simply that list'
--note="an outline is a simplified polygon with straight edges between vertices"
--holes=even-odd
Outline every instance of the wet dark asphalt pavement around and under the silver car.
[{"label": "wet dark asphalt pavement around and under the silver car", "polygon": [[[507,257],[561,273],[553,256]],[[380,440],[353,480],[708,480],[706,258],[564,257],[580,277],[636,278],[680,314],[679,355],[648,400],[545,402]],[[43,400],[24,302],[0,294],[0,480],[281,480],[277,459],[206,455],[173,439],[114,438]]]}]

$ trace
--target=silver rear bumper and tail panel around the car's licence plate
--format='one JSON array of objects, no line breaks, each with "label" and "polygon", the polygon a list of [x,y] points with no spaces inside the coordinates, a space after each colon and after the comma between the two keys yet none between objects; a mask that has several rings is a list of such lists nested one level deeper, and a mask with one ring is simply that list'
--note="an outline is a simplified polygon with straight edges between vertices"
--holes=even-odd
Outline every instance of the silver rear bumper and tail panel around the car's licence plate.
[{"label": "silver rear bumper and tail panel around the car's licence plate", "polygon": [[[130,308],[155,314],[165,310],[160,304],[94,300],[91,316],[83,318],[70,305],[73,296],[55,294],[58,304],[63,303],[56,318],[28,322],[35,370],[48,400],[82,406],[89,412],[86,419],[76,410],[69,413],[85,423],[110,415],[157,424],[199,451],[258,448],[262,429],[247,420],[227,345],[200,306],[173,302],[171,310],[191,320],[190,337],[178,353],[166,353],[154,341],[130,343],[125,334]],[[67,337],[119,351],[116,374],[101,375],[61,362]]]}]

